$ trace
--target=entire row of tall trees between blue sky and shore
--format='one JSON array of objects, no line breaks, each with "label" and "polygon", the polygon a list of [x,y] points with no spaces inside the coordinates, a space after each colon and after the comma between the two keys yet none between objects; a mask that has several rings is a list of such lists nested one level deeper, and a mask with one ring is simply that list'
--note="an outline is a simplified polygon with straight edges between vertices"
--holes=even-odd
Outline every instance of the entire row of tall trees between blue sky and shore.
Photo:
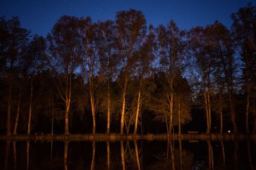
[{"label": "entire row of tall trees between blue sky and shore", "polygon": [[62,16],[44,38],[1,17],[1,133],[137,134],[152,124],[171,135],[192,118],[206,133],[212,122],[255,132],[256,8],[231,18],[231,29],[184,31],[173,20],[147,27],[136,10],[104,22]]}]

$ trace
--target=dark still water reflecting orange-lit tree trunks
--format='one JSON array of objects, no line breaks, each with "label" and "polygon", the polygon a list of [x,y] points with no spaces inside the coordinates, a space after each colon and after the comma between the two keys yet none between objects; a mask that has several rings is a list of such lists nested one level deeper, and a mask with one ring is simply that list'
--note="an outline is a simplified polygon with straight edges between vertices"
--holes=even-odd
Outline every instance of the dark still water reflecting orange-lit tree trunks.
[{"label": "dark still water reflecting orange-lit tree trunks", "polygon": [[1,141],[0,169],[256,169],[256,141]]}]

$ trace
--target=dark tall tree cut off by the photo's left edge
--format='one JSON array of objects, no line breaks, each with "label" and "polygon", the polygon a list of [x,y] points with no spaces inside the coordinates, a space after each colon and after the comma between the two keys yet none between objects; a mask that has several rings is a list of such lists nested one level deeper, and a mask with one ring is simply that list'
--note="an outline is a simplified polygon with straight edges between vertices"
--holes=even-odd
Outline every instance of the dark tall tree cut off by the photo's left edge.
[{"label": "dark tall tree cut off by the photo's left edge", "polygon": [[6,134],[11,134],[11,108],[12,108],[12,89],[14,70],[17,66],[17,58],[26,46],[29,38],[29,31],[20,27],[19,18],[13,17],[11,20],[0,18],[0,61],[1,69],[8,76],[8,91],[7,91],[7,120]]}]

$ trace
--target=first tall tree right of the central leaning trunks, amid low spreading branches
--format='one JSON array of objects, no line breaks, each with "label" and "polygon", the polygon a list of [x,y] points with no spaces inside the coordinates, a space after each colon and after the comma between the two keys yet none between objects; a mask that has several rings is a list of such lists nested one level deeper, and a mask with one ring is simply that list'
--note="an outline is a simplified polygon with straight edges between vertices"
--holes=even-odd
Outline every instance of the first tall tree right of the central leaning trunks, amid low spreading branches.
[{"label": "first tall tree right of the central leaning trunks, amid low spreading branches", "polygon": [[177,75],[182,71],[182,62],[185,57],[186,44],[184,41],[184,31],[181,31],[179,27],[171,20],[166,27],[159,25],[156,29],[157,41],[159,46],[159,57],[161,70],[164,71],[164,91],[169,103],[169,121],[168,129],[169,135],[172,135],[173,126],[173,98],[174,91],[173,83]]}]

